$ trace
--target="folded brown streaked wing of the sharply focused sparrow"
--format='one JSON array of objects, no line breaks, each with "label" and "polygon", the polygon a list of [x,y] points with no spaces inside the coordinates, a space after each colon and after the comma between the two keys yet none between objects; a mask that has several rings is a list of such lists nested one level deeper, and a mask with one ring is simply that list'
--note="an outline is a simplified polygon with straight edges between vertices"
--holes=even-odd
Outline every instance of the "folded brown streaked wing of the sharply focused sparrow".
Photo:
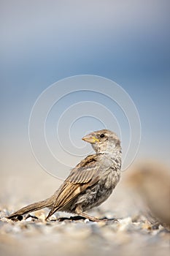
[{"label": "folded brown streaked wing of the sharply focused sparrow", "polygon": [[66,181],[58,191],[53,208],[48,214],[50,217],[55,211],[58,211],[63,206],[66,206],[74,197],[79,195],[88,187],[96,184],[98,181],[98,173],[101,168],[101,161],[98,161],[98,156],[90,155],[80,162],[69,174]]}]

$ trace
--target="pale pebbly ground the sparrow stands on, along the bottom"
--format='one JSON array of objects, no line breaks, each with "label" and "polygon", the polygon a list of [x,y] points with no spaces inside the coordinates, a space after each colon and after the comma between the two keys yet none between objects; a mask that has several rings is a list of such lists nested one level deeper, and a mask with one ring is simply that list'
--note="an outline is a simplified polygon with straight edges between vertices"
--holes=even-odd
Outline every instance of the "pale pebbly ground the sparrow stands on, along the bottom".
[{"label": "pale pebbly ground the sparrow stands on, along the bottom", "polygon": [[[170,233],[162,225],[152,225],[142,216],[124,217],[117,220],[91,222],[89,219],[70,219],[71,215],[53,215],[45,221],[45,211],[37,211],[21,221],[13,222],[6,219],[0,212],[0,251],[1,255],[37,255],[45,256],[86,256],[86,255],[130,255],[143,256],[137,250],[138,246],[149,249],[157,256],[159,248],[163,256],[169,255]],[[93,216],[104,217],[115,215],[93,211]],[[58,217],[62,217],[58,221]],[[40,248],[40,249],[37,249]],[[120,249],[121,248],[121,249]],[[15,253],[14,253],[15,252]]]}]

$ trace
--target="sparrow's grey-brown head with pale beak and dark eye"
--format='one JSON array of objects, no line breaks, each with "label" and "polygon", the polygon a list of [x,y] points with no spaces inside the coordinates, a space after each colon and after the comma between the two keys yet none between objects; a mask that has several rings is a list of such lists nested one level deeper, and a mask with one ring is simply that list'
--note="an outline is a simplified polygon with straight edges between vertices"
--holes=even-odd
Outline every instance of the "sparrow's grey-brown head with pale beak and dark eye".
[{"label": "sparrow's grey-brown head with pale beak and dark eye", "polygon": [[109,131],[109,129],[101,129],[96,132],[91,132],[82,138],[88,143],[91,143],[96,153],[112,153],[120,151],[120,140],[115,132]]}]

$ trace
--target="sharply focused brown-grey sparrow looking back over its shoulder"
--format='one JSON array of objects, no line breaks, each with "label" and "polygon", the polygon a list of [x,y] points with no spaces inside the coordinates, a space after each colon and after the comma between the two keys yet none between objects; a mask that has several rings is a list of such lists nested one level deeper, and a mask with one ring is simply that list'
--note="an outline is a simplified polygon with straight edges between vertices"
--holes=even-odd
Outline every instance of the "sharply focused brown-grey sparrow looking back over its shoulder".
[{"label": "sharply focused brown-grey sparrow looking back over its shoulder", "polygon": [[16,219],[28,212],[47,207],[50,208],[50,212],[45,220],[56,211],[65,211],[93,222],[101,221],[89,216],[86,211],[107,200],[120,180],[122,156],[120,139],[115,132],[101,129],[90,132],[82,140],[91,144],[95,154],[82,159],[51,197],[20,208],[9,215],[8,219]]}]

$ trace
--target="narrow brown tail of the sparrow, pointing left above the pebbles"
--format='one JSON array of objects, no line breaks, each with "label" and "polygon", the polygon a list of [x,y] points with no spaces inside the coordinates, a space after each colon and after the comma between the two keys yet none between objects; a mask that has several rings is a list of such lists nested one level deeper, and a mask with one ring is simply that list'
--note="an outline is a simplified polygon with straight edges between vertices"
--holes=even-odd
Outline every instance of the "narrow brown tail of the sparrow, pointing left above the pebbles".
[{"label": "narrow brown tail of the sparrow, pointing left above the pebbles", "polygon": [[13,214],[9,215],[7,218],[12,219],[12,218],[18,217],[23,214],[28,214],[28,212],[30,212],[30,211],[37,211],[37,210],[40,210],[45,207],[50,208],[51,206],[53,206],[53,199],[50,197],[45,200],[39,201],[37,203],[31,203],[28,206],[20,208],[20,210],[15,211]]}]

